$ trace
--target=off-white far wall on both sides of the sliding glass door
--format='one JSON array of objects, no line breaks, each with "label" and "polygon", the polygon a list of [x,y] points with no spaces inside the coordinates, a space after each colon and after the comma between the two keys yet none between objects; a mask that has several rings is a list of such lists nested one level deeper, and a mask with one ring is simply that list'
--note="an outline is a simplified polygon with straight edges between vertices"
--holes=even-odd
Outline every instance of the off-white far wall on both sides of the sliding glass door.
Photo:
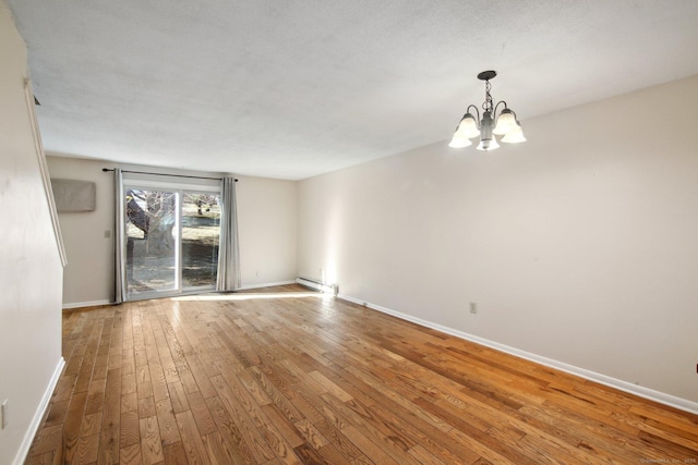
[{"label": "off-white far wall on both sides of the sliding glass door", "polygon": [[[68,254],[63,306],[113,302],[113,176],[109,161],[64,156],[48,157],[51,178],[91,181],[97,206],[89,212],[59,213]],[[121,164],[136,171],[182,173],[178,170]],[[219,176],[220,173],[190,173]],[[245,287],[296,279],[296,182],[238,176],[240,268]],[[105,237],[105,232],[110,237]],[[258,272],[258,273],[257,273]]]}]

